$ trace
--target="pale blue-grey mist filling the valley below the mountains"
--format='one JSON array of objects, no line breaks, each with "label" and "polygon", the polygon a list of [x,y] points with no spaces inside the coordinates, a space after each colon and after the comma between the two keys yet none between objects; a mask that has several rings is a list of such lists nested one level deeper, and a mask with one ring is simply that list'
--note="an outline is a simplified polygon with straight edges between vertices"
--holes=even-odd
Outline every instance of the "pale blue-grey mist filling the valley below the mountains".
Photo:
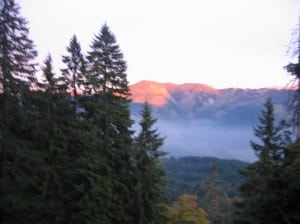
[{"label": "pale blue-grey mist filling the valley below the mountains", "polygon": [[[134,117],[133,129],[138,133],[139,118]],[[256,141],[253,127],[221,124],[212,120],[158,119],[155,128],[165,137],[163,151],[167,157],[211,156],[237,159],[247,162],[256,160],[250,140]]]}]

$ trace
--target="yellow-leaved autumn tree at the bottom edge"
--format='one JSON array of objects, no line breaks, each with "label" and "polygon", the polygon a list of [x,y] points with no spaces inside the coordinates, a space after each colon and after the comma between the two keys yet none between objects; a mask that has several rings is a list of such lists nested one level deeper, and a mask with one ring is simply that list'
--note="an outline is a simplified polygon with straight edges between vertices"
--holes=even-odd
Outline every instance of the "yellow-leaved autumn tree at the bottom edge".
[{"label": "yellow-leaved autumn tree at the bottom edge", "polygon": [[172,207],[167,207],[167,224],[209,224],[205,210],[198,207],[196,195],[182,195]]}]

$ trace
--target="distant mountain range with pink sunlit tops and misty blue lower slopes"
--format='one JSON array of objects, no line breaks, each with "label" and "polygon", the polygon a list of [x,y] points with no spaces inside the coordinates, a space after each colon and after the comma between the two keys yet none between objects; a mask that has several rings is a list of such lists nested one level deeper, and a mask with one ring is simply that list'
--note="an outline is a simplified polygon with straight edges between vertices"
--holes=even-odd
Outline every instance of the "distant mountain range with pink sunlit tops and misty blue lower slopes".
[{"label": "distant mountain range with pink sunlit tops and misty blue lower slopes", "polygon": [[[252,161],[249,141],[263,104],[270,97],[275,115],[288,119],[293,90],[285,88],[215,89],[198,83],[141,81],[130,86],[131,112],[140,119],[142,104],[152,105],[164,150],[173,156],[215,156]],[[135,126],[135,128],[138,128]]]}]

